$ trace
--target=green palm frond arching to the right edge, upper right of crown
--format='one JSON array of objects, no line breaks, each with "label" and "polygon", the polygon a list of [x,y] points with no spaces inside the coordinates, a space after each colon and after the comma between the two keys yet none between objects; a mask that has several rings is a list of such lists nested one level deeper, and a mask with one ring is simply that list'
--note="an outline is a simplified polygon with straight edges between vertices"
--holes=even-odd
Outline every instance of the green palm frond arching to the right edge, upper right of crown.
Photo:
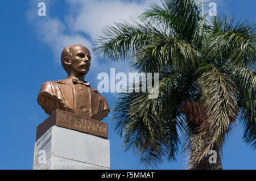
[{"label": "green palm frond arching to the right edge, upper right of crown", "polygon": [[215,18],[206,52],[214,56],[214,60],[220,60],[221,64],[255,65],[255,25],[247,20],[234,23],[234,17]]}]

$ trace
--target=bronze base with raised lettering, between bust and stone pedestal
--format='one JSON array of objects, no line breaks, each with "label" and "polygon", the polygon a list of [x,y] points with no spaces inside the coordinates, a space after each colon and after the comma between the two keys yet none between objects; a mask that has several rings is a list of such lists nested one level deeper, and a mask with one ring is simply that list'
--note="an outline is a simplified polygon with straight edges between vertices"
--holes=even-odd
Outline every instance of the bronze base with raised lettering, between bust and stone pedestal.
[{"label": "bronze base with raised lettering, between bust and stone pedestal", "polygon": [[89,117],[78,116],[71,112],[56,110],[43,123],[38,125],[36,141],[53,125],[108,138],[108,124]]}]

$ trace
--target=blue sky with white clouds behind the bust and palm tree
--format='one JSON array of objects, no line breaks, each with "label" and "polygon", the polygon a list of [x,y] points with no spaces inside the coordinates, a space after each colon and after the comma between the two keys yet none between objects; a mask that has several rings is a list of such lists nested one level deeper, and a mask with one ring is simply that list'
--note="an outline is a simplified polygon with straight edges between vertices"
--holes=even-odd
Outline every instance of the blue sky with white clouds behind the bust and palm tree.
[{"label": "blue sky with white clouds behind the bust and palm tree", "polygon": [[[38,3],[45,2],[47,15],[38,16]],[[1,161],[0,169],[32,169],[36,127],[48,115],[37,104],[40,86],[45,81],[56,81],[67,75],[60,65],[61,50],[81,43],[95,48],[93,40],[106,24],[148,9],[151,1],[1,1]],[[158,1],[155,1],[158,2]],[[256,21],[255,0],[225,0],[216,2],[217,14],[236,15],[237,19]],[[205,11],[208,8],[205,7]],[[97,88],[97,74],[131,71],[124,62],[104,62],[92,54],[92,65],[86,81]],[[116,95],[103,93],[113,108]],[[109,124],[111,169],[146,169],[138,157],[123,151],[122,138]],[[223,149],[224,169],[256,169],[256,152],[242,141],[242,128],[238,124]],[[164,161],[157,169],[185,169],[186,155],[178,154],[177,162]]]}]

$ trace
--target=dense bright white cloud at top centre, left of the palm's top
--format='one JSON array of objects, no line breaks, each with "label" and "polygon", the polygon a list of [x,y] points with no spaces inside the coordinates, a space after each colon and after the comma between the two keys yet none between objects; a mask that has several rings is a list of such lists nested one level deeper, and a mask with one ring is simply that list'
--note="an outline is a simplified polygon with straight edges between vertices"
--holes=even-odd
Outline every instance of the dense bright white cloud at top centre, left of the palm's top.
[{"label": "dense bright white cloud at top centre, left of the palm's top", "polygon": [[138,3],[120,0],[73,0],[67,3],[71,6],[71,12],[74,12],[67,17],[69,29],[82,31],[92,39],[107,24],[139,15],[148,8],[148,1]]}]

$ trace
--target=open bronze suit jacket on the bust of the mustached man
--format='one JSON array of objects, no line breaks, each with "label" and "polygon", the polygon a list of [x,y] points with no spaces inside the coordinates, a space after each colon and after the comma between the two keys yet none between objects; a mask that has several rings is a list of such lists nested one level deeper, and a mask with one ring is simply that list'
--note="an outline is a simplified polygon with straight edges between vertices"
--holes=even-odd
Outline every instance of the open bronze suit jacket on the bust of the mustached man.
[{"label": "open bronze suit jacket on the bust of the mustached man", "polygon": [[[89,86],[89,90],[89,117],[102,120],[109,113],[108,102],[105,96],[97,92],[97,89]],[[51,115],[56,109],[75,113],[72,92],[72,85],[68,78],[44,82],[39,91],[38,104],[48,115]]]}]

